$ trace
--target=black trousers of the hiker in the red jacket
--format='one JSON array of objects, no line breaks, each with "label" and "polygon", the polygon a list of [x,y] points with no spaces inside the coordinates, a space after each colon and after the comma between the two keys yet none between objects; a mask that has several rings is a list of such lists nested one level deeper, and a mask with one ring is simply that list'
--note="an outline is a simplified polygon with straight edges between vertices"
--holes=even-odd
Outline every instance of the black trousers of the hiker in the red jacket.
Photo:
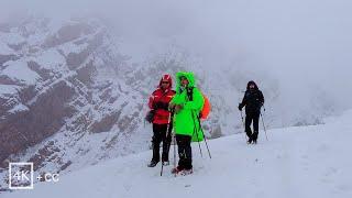
[{"label": "black trousers of the hiker in the red jacket", "polygon": [[[173,125],[169,125],[169,130],[172,131]],[[162,161],[168,162],[168,151],[169,145],[172,142],[172,134],[167,134],[167,124],[153,124],[153,158],[154,162],[160,162],[161,154],[160,154],[160,146],[161,142],[163,142],[163,154],[162,154]]]}]

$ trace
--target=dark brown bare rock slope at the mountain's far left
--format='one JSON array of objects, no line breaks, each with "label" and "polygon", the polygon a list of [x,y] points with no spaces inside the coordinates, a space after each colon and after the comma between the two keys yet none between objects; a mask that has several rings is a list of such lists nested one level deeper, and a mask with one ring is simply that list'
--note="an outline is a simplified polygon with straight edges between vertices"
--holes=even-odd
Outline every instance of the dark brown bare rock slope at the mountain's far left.
[{"label": "dark brown bare rock slope at the mountain's far left", "polygon": [[35,145],[53,135],[64,124],[67,116],[66,102],[74,96],[73,88],[64,81],[53,86],[51,90],[37,97],[30,106],[30,111],[8,118],[0,124],[1,152],[0,161],[10,154]]}]

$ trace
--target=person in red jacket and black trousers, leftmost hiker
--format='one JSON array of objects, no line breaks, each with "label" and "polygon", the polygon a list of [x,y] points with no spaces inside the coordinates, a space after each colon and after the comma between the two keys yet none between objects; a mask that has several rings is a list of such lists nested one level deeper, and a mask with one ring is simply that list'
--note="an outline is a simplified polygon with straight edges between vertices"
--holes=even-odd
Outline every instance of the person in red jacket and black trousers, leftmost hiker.
[{"label": "person in red jacket and black trousers, leftmost hiker", "polygon": [[[169,101],[176,94],[173,89],[173,80],[170,75],[164,75],[160,81],[157,89],[152,94],[148,101],[150,122],[153,122],[153,158],[147,165],[154,167],[160,162],[160,145],[163,142],[163,165],[169,165],[168,151],[172,142],[172,121],[169,120],[170,112],[168,111]],[[167,130],[168,129],[168,130]]]}]

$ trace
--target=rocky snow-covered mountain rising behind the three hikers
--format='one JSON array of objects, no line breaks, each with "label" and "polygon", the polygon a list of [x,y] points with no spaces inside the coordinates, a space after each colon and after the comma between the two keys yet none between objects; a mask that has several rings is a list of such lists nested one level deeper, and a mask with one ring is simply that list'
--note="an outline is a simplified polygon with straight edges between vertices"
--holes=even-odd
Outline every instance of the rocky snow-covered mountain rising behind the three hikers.
[{"label": "rocky snow-covered mountain rising behind the three hikers", "polygon": [[136,53],[116,31],[95,18],[30,16],[0,24],[2,189],[8,162],[34,162],[36,173],[64,174],[147,150],[145,105],[165,73],[196,74],[212,105],[204,123],[209,138],[243,131],[237,106],[251,79],[266,97],[268,127],[322,123],[334,112],[332,99],[319,89],[314,95],[319,102],[309,98],[305,111],[287,111],[292,100],[270,73],[250,72],[241,63],[211,65],[174,38]]}]

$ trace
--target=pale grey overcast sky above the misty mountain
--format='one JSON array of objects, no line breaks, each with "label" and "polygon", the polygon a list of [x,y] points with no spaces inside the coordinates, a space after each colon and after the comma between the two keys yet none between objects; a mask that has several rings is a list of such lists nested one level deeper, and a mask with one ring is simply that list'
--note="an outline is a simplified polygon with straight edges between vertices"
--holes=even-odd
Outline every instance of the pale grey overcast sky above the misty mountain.
[{"label": "pale grey overcast sky above the misty mountain", "polygon": [[286,88],[320,85],[340,101],[352,96],[351,0],[1,2],[0,21],[25,12],[102,15],[138,53],[168,40],[202,57],[208,68],[241,66],[270,73]]}]

